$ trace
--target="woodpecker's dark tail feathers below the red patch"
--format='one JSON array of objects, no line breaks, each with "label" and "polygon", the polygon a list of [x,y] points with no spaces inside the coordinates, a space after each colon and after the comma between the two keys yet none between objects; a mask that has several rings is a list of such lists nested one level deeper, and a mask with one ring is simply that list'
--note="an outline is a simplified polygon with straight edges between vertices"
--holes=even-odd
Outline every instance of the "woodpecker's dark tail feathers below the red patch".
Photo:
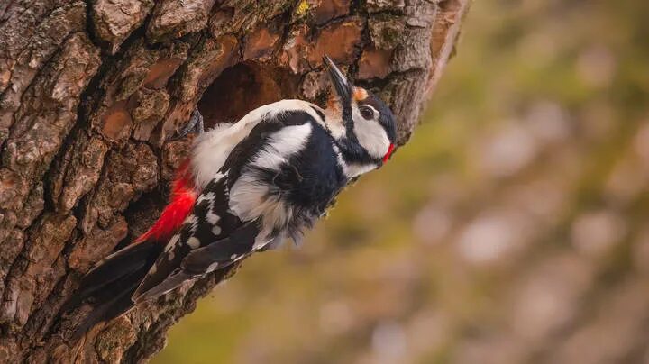
[{"label": "woodpecker's dark tail feathers below the red patch", "polygon": [[92,309],[81,320],[72,339],[80,338],[96,323],[109,321],[133,307],[131,296],[140,285],[163,246],[142,241],[114,252],[81,278],[78,291],[63,305],[67,312],[87,302]]}]

